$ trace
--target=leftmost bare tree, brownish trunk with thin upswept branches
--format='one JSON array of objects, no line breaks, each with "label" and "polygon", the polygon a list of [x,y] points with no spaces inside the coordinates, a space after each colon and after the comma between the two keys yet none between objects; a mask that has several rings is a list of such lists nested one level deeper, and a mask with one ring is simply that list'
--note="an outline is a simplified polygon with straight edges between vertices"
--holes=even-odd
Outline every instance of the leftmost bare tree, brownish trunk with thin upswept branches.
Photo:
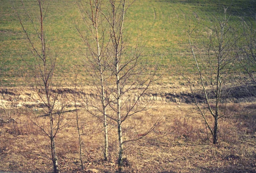
[{"label": "leftmost bare tree, brownish trunk with thin upswept branches", "polygon": [[[41,116],[31,118],[31,121],[49,137],[53,171],[54,173],[58,173],[59,167],[55,136],[58,131],[64,127],[64,124],[62,123],[64,116],[62,113],[65,106],[65,98],[61,98],[57,92],[60,83],[56,86],[53,84],[57,55],[50,51],[49,44],[46,41],[46,32],[44,31],[44,19],[47,16],[49,3],[47,3],[47,0],[37,0],[39,15],[36,16],[36,20],[27,11],[23,0],[20,0],[20,3],[23,6],[27,19],[31,23],[31,26],[26,28],[19,12],[15,8],[15,3],[12,1],[20,25],[28,40],[28,48],[34,57],[32,64],[27,63],[32,72],[32,77],[28,82],[31,83],[32,90],[36,92],[43,102],[45,116],[48,116],[49,118],[49,122],[42,120],[40,118]],[[32,31],[36,35],[35,39],[30,35],[30,32]]]}]

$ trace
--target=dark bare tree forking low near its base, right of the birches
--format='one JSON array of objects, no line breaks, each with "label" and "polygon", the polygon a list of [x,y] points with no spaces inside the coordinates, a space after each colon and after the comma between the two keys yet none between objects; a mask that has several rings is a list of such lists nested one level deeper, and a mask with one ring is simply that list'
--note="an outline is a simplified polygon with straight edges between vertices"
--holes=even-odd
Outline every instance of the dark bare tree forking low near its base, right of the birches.
[{"label": "dark bare tree forking low near its base, right of the birches", "polygon": [[[207,30],[207,40],[204,41],[202,47],[200,44],[195,44],[192,41],[192,33],[195,28],[191,28],[189,21],[189,30],[186,35],[189,38],[189,46],[191,48],[192,57],[195,62],[195,68],[197,73],[197,80],[200,83],[200,89],[193,87],[191,79],[185,77],[189,83],[192,95],[195,100],[195,104],[199,110],[199,114],[202,115],[207,127],[209,128],[213,144],[218,144],[218,119],[225,116],[225,111],[219,110],[219,105],[223,102],[222,97],[223,86],[227,82],[232,70],[232,63],[234,62],[234,45],[236,43],[236,32],[233,31],[230,23],[231,16],[227,14],[227,8],[221,10],[217,17],[217,22],[212,26],[212,30]],[[222,12],[221,12],[222,11]],[[204,105],[199,103],[196,96],[197,91],[202,91],[204,97]],[[214,118],[213,129],[209,124],[206,114],[210,113]]]}]

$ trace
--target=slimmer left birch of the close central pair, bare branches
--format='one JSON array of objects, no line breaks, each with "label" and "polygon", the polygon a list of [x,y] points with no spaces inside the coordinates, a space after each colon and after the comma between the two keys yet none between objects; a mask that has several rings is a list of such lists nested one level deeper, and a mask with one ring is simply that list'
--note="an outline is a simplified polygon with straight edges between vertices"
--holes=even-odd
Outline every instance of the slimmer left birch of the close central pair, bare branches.
[{"label": "slimmer left birch of the close central pair, bare branches", "polygon": [[[108,160],[108,120],[106,116],[106,101],[105,101],[105,85],[106,78],[106,58],[109,38],[105,37],[106,30],[104,26],[104,18],[101,15],[101,5],[103,0],[78,0],[77,4],[81,18],[83,19],[85,30],[79,28],[76,24],[76,30],[79,36],[83,39],[88,53],[86,54],[86,66],[87,72],[89,72],[91,81],[90,83],[96,90],[98,98],[100,99],[101,105],[97,105],[90,99],[86,99],[85,109],[93,116],[98,117],[104,124],[105,131],[105,147],[104,147],[104,159]],[[91,111],[90,108],[95,108],[97,111]],[[102,114],[102,116],[99,116]]]}]

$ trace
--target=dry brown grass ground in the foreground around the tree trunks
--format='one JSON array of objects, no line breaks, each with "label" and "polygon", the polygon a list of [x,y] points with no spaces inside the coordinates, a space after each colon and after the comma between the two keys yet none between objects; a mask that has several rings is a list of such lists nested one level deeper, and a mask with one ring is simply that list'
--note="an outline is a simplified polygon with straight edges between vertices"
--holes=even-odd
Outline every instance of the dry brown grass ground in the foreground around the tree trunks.
[{"label": "dry brown grass ground in the foreground around the tree trunks", "polygon": [[[127,173],[255,173],[256,105],[250,100],[230,98],[227,116],[219,122],[219,144],[212,139],[204,120],[192,103],[184,85],[161,85],[157,93],[145,96],[155,100],[154,108],[139,113],[123,125],[124,138],[136,139],[160,117],[154,130],[143,139],[125,143],[124,172]],[[38,98],[29,88],[1,88],[0,118],[14,118],[0,125],[0,172],[52,172],[49,138],[32,123],[42,114]],[[80,88],[93,97],[93,91]],[[73,109],[72,88],[63,88]],[[82,102],[82,99],[79,100]],[[3,107],[6,108],[4,113]],[[224,107],[224,105],[223,105]],[[9,117],[8,117],[9,113]],[[104,131],[96,117],[79,110],[82,126],[82,152],[85,170],[113,173],[117,170],[116,128],[109,124],[109,162],[103,160]],[[210,116],[209,116],[210,117]],[[40,121],[47,120],[41,117]],[[67,125],[56,136],[60,171],[81,172],[75,114],[65,114]],[[212,123],[212,122],[211,122]],[[133,128],[131,128],[133,127]],[[135,130],[134,130],[135,128]]]}]

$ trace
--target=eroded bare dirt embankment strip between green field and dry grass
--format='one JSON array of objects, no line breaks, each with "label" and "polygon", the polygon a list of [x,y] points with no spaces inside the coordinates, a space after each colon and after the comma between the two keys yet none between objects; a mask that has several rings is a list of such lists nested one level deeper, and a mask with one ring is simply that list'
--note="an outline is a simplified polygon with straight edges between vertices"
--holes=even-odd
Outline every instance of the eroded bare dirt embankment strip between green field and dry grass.
[{"label": "eroded bare dirt embankment strip between green field and dry grass", "polygon": [[[40,91],[39,91],[40,92]],[[74,94],[79,95],[78,102],[84,102],[85,98],[96,99],[96,91],[90,87],[79,88],[61,88],[57,91],[60,96],[67,98],[67,106],[72,107],[74,105],[73,98]],[[40,108],[44,104],[41,101],[38,94],[31,90],[29,87],[25,88],[0,88],[0,105],[5,108]],[[215,99],[212,92],[208,92],[209,99]],[[198,102],[204,102],[204,94],[202,91],[195,91],[195,97]],[[61,97],[60,97],[61,98]],[[256,86],[241,86],[235,88],[223,88],[223,102],[248,102],[254,101],[256,98]],[[194,102],[194,97],[188,87],[183,86],[154,86],[150,88],[142,98],[146,100],[153,100],[155,102],[172,102],[174,104],[187,103],[191,104]]]}]

